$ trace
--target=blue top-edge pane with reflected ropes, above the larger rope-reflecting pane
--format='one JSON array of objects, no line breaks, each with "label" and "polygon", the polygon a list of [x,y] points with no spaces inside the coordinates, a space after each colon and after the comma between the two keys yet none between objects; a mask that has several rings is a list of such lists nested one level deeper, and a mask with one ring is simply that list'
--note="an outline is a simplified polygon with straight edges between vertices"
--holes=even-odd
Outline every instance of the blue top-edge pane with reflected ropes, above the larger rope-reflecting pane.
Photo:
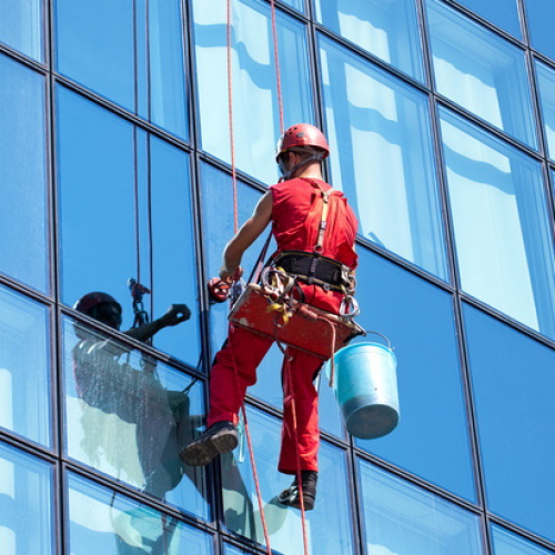
[{"label": "blue top-edge pane with reflected ropes, above the larger rope-reflecting pane", "polygon": [[180,0],[57,0],[57,67],[170,133],[189,137]]}]

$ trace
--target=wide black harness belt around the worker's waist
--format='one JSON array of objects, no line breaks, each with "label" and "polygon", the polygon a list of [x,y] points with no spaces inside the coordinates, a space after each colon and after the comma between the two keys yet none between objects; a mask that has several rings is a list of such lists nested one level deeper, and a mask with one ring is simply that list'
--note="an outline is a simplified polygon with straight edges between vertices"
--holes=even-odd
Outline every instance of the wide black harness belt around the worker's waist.
[{"label": "wide black harness belt around the worker's waist", "polygon": [[309,252],[284,251],[275,256],[273,263],[309,284],[316,283],[339,291],[349,286],[350,269],[332,259]]}]

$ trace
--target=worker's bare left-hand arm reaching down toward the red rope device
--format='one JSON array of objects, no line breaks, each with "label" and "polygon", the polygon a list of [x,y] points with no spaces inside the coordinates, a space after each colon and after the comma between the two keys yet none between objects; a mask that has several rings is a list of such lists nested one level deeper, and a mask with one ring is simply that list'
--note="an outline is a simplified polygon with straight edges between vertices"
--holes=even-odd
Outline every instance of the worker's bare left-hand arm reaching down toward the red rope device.
[{"label": "worker's bare left-hand arm reaching down toward the red rope device", "polygon": [[241,264],[243,253],[256,241],[260,234],[266,229],[272,219],[272,193],[268,191],[260,199],[253,214],[236,232],[235,236],[225,245],[223,250],[222,269],[220,278],[223,281],[231,281],[233,274]]}]

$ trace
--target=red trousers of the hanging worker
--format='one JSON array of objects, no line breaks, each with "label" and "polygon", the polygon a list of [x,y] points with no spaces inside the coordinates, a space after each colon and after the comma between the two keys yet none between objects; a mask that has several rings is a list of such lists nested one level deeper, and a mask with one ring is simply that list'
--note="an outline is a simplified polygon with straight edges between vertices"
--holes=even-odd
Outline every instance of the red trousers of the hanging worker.
[{"label": "red trousers of the hanging worker", "polygon": [[[339,314],[342,293],[324,291],[317,285],[301,284],[301,287],[306,303]],[[256,367],[272,343],[272,340],[262,335],[230,325],[228,341],[215,355],[210,371],[209,426],[219,421],[238,422],[246,387],[256,383]],[[317,471],[320,431],[317,391],[313,381],[321,366],[322,359],[287,347],[282,365],[283,426],[278,465],[278,470],[284,474],[296,474],[297,453],[302,471]]]}]

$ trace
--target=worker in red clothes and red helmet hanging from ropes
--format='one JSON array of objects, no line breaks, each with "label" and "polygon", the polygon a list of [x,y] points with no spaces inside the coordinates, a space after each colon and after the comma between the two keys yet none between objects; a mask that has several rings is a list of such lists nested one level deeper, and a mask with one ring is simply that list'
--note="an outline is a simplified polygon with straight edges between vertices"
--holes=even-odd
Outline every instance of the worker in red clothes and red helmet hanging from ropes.
[{"label": "worker in red clothes and red helmet hanging from ropes", "polygon": [[[296,275],[306,303],[340,313],[357,261],[354,252],[357,222],[343,194],[322,180],[322,160],[327,155],[327,142],[313,125],[297,124],[285,131],[278,144],[276,158],[285,181],[270,188],[253,215],[225,246],[220,271],[223,281],[231,282],[242,273],[240,262],[244,251],[272,222],[278,243],[274,263]],[[325,218],[322,215],[324,204],[327,204]],[[230,326],[228,341],[211,370],[209,427],[181,452],[185,463],[205,465],[216,455],[235,448],[238,412],[246,387],[256,381],[256,367],[271,344],[272,340]],[[284,422],[279,470],[296,475],[300,461],[306,509],[313,508],[316,494],[320,434],[313,380],[321,366],[321,359],[289,347],[282,369]],[[279,501],[301,506],[296,477]]]}]

